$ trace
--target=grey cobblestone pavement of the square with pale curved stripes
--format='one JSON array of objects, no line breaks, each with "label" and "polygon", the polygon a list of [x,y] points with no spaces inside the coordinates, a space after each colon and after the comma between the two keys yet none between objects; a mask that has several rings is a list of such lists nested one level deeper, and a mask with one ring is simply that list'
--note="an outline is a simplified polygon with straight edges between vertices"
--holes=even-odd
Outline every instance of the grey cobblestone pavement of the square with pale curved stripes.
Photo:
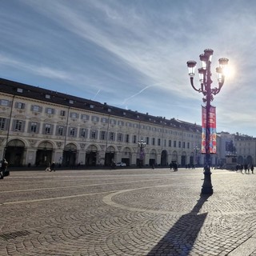
[{"label": "grey cobblestone pavement of the square with pale curved stripes", "polygon": [[2,255],[256,255],[256,175],[202,168],[13,171]]}]

